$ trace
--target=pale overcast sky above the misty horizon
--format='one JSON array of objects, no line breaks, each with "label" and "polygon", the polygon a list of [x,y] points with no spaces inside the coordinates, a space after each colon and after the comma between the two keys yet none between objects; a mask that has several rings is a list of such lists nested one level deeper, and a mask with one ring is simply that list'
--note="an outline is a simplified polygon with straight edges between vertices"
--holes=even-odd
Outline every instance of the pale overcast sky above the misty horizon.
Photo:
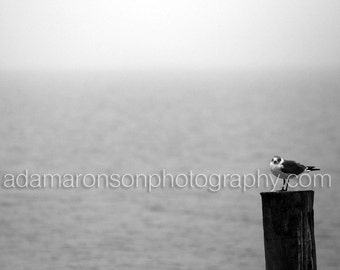
[{"label": "pale overcast sky above the misty horizon", "polygon": [[340,1],[1,0],[0,68],[337,67]]}]

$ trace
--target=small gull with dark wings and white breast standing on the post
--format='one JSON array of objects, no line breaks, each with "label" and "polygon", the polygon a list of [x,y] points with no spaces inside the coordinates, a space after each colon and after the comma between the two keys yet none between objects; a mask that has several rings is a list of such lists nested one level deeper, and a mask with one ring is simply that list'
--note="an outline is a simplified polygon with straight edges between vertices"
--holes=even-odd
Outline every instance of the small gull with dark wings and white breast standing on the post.
[{"label": "small gull with dark wings and white breast standing on the post", "polygon": [[[293,160],[284,160],[279,156],[274,156],[270,161],[270,171],[278,178],[283,179],[281,191],[287,191],[290,178],[297,177],[303,172],[319,171],[315,166],[305,166]],[[287,180],[287,185],[286,185]],[[286,186],[286,187],[285,187]]]}]

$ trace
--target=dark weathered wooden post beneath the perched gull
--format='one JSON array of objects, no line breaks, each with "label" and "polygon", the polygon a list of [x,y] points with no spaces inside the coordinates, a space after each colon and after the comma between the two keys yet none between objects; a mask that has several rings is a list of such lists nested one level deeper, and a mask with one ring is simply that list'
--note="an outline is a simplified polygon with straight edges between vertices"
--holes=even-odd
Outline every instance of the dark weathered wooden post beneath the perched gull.
[{"label": "dark weathered wooden post beneath the perched gull", "polygon": [[314,191],[261,197],[266,270],[316,270]]}]

